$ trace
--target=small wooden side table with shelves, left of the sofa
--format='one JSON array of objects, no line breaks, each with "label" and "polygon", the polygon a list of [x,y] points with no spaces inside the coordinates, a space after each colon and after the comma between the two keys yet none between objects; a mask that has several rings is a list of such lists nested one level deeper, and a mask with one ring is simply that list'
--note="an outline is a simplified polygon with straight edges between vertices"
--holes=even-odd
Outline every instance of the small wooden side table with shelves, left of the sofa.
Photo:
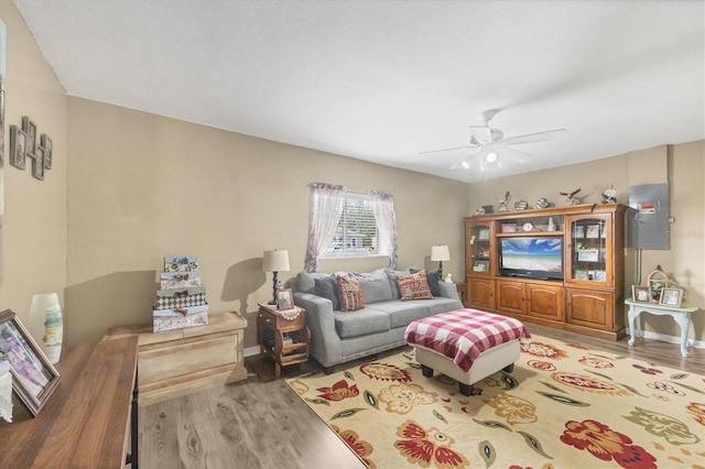
[{"label": "small wooden side table with shelves, left of the sofa", "polygon": [[269,355],[274,359],[274,378],[280,378],[282,367],[301,363],[301,371],[306,371],[308,360],[308,340],[311,335],[304,315],[306,310],[296,306],[295,317],[285,317],[276,310],[276,306],[259,304],[257,316],[257,342],[260,357]]}]

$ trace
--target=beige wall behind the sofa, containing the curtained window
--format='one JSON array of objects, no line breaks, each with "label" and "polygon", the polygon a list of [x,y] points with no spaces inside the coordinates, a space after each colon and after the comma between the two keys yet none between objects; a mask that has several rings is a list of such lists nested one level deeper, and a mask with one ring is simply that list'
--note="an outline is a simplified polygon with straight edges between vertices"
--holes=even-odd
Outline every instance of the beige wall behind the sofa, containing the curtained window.
[{"label": "beige wall behind the sofa, containing the curtained window", "polygon": [[[399,265],[424,265],[451,247],[445,271],[463,272],[466,185],[358,160],[137,112],[69,100],[68,313],[72,343],[106,328],[151,320],[164,255],[198,255],[209,310],[238,310],[254,345],[257,303],[271,298],[265,250],[303,268],[308,183],[394,194]],[[429,264],[431,265],[431,264]],[[322,271],[375,261],[326,261]]]}]

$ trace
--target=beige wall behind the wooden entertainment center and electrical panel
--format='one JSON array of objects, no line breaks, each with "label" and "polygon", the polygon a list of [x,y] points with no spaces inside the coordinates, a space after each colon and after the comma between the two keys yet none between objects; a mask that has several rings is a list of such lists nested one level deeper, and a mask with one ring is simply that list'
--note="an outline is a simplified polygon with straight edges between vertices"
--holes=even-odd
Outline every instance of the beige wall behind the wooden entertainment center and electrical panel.
[{"label": "beige wall behind the wooden entertainment center and electrical panel", "polygon": [[[468,196],[473,209],[482,205],[497,206],[496,197],[512,193],[510,208],[517,200],[533,206],[539,197],[564,205],[560,192],[581,188],[585,203],[600,203],[601,192],[609,186],[617,190],[617,200],[629,204],[629,187],[640,184],[669,183],[671,215],[671,249],[643,250],[641,275],[637,272],[637,252],[630,249],[626,260],[626,296],[631,285],[642,283],[653,269],[661,266],[685,288],[686,301],[705,305],[705,141],[679,145],[661,145],[633,151],[626,155],[588,163],[573,164],[512,177],[471,184]],[[690,337],[705,340],[705,315],[694,315],[694,331]],[[670,317],[644,315],[647,330],[679,336],[680,329]]]}]

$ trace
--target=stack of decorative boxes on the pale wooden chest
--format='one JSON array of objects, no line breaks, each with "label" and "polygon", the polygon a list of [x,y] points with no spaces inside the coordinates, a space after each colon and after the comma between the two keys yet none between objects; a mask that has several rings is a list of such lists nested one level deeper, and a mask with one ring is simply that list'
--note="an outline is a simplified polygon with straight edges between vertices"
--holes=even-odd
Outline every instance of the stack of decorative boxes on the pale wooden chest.
[{"label": "stack of decorative boxes on the pale wooden chest", "polygon": [[200,284],[198,258],[164,258],[164,272],[153,308],[154,331],[208,324],[206,288]]}]

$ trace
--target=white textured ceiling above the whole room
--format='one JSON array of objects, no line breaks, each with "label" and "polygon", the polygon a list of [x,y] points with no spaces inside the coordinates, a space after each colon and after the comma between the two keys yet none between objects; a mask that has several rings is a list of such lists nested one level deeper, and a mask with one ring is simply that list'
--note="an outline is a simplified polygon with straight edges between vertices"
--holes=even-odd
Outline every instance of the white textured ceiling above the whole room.
[{"label": "white textured ceiling above the whole room", "polygon": [[[705,138],[701,0],[14,3],[68,95],[459,181]],[[419,154],[487,109],[570,138],[484,173]]]}]

